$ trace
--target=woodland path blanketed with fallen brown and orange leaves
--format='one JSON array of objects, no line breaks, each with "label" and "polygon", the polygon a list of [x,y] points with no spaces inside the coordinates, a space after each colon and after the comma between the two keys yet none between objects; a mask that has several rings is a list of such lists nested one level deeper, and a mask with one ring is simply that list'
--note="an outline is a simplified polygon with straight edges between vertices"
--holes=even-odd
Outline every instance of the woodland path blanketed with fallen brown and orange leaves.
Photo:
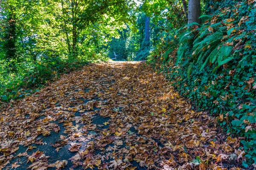
[{"label": "woodland path blanketed with fallen brown and orange leaves", "polygon": [[90,64],[1,109],[0,169],[239,170],[239,147],[143,62]]}]

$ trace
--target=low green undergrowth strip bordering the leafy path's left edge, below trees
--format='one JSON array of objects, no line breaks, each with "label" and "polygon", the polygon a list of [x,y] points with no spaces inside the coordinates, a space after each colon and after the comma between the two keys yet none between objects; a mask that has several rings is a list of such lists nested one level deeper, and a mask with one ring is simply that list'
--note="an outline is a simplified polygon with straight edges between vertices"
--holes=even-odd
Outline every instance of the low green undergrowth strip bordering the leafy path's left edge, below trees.
[{"label": "low green undergrowth strip bordering the leafy path's left edge, below trees", "polygon": [[[97,61],[107,61],[102,57]],[[8,63],[1,61],[0,68],[0,104],[11,99],[20,99],[38,91],[61,74],[81,69],[92,60],[89,59],[63,59],[62,57],[47,57],[40,61],[24,61],[16,64],[15,71],[6,69]]]}]

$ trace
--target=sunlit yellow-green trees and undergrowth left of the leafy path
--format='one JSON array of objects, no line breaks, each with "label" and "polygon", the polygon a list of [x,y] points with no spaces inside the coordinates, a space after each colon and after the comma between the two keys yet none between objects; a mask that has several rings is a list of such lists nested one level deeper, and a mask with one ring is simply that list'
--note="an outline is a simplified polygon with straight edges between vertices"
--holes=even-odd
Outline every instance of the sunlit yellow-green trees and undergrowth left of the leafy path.
[{"label": "sunlit yellow-green trees and undergrowth left of the leafy path", "polygon": [[133,1],[1,0],[0,101],[20,98],[61,73],[106,61]]}]

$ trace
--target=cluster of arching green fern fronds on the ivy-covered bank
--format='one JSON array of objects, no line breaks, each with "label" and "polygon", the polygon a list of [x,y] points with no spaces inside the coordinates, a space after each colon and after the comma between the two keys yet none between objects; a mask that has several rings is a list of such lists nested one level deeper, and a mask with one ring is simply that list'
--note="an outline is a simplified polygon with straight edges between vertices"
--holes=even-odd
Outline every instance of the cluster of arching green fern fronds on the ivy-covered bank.
[{"label": "cluster of arching green fern fronds on the ivy-covered bank", "polygon": [[[205,15],[202,18],[210,17]],[[246,34],[232,34],[239,28],[227,29],[224,23],[205,24],[198,28],[194,27],[196,25],[192,23],[185,27],[186,31],[180,34],[180,46],[177,51],[176,65],[187,65],[188,78],[194,64],[199,65],[202,71],[210,63],[216,64],[218,68],[232,61],[235,55],[239,54],[238,50],[234,49],[233,42],[241,40]]]}]

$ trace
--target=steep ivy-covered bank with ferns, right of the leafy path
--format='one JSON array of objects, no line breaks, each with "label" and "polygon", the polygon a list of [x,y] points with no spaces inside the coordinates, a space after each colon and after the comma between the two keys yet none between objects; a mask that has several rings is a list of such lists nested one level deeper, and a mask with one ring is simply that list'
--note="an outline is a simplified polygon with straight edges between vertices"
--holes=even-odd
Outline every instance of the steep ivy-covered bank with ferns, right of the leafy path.
[{"label": "steep ivy-covered bank with ferns, right of the leafy path", "polygon": [[256,164],[256,1],[210,0],[202,23],[177,31],[149,61],[191,99],[195,108],[218,117]]}]

